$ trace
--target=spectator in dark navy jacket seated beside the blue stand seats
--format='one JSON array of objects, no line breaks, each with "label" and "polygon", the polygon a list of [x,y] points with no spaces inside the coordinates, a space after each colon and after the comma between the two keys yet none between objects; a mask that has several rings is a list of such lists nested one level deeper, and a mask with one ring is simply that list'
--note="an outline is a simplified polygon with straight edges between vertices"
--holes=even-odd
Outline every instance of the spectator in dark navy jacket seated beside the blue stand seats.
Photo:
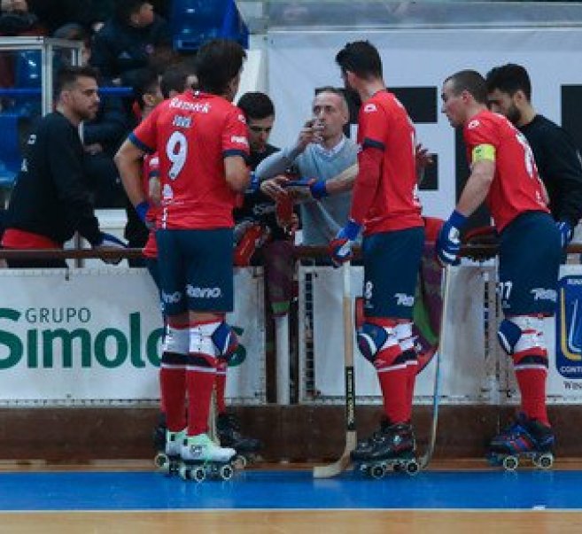
[{"label": "spectator in dark navy jacket seated beside the blue stand seats", "polygon": [[167,66],[172,55],[170,27],[153,12],[152,4],[120,0],[113,17],[95,35],[91,65],[118,82],[121,74],[144,66]]}]

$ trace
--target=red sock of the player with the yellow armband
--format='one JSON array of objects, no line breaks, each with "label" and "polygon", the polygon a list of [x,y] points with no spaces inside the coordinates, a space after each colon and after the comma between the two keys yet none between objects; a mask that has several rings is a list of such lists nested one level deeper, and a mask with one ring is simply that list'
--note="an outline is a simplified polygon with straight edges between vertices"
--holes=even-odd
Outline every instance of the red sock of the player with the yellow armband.
[{"label": "red sock of the player with the yellow armband", "polygon": [[[546,409],[547,354],[519,352],[514,354],[514,365],[519,391],[522,395],[522,411],[530,419],[537,419],[550,426]],[[524,359],[528,362],[524,363]]]}]

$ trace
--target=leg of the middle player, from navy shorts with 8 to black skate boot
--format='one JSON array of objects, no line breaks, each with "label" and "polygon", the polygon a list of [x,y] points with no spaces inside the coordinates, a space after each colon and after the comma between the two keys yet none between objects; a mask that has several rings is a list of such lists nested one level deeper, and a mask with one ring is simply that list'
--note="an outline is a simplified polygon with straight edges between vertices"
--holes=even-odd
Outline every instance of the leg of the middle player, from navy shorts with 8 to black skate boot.
[{"label": "leg of the middle player, from navy shorts with 8 to black skate boot", "polygon": [[379,432],[361,442],[354,460],[410,455],[415,439],[410,424],[415,376],[412,313],[423,249],[423,228],[364,238],[364,317],[357,338],[374,365],[384,399]]}]

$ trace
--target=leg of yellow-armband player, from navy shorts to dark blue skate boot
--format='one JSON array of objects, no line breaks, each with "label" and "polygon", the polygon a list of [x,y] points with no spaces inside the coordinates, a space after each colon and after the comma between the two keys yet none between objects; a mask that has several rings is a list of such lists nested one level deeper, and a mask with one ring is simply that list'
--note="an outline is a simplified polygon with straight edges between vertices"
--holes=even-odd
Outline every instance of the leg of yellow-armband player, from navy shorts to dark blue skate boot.
[{"label": "leg of yellow-armband player, from navy shorts to dark blue skate boot", "polygon": [[544,213],[522,215],[501,234],[501,321],[498,337],[513,360],[521,414],[494,437],[494,453],[547,452],[554,443],[547,418],[547,343],[543,317],[555,313],[560,239]]}]

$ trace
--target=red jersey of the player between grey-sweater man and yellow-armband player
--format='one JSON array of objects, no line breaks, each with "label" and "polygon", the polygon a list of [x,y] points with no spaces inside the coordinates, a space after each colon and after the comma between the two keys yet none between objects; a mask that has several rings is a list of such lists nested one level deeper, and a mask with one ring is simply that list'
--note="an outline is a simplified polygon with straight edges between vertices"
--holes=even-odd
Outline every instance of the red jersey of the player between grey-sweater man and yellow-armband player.
[{"label": "red jersey of the player between grey-sweater man and yellow-armband player", "polygon": [[416,184],[415,127],[391,92],[378,91],[361,105],[358,143],[362,149],[370,146],[384,151],[382,174],[364,220],[364,233],[423,226]]}]

